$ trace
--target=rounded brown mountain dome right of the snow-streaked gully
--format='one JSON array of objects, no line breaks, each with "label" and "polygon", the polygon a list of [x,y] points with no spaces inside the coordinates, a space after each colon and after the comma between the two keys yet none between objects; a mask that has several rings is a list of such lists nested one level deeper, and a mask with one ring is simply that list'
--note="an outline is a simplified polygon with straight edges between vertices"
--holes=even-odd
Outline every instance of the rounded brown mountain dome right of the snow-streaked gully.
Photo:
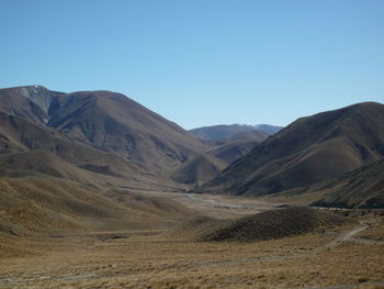
[{"label": "rounded brown mountain dome right of the snow-streaked gully", "polygon": [[120,93],[74,92],[58,101],[60,108],[49,126],[153,170],[185,162],[204,149],[177,124]]}]

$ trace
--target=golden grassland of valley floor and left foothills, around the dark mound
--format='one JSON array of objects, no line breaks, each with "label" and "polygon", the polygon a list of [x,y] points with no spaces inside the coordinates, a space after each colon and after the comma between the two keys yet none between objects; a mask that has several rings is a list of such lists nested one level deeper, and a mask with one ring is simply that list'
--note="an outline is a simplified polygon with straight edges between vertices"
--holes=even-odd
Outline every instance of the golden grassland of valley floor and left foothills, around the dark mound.
[{"label": "golden grassland of valley floor and left foothills, around the dark mound", "polygon": [[[1,194],[0,288],[384,286],[384,221],[379,214],[351,213],[350,222],[280,240],[199,243],[193,230],[189,234],[177,229],[191,218],[233,220],[273,209],[284,200],[111,190],[95,196],[67,182],[27,184],[34,190],[26,191],[23,182],[0,184],[8,188]],[[47,190],[48,185],[55,189]],[[60,213],[55,219],[49,213],[53,208]],[[92,214],[82,215],[84,209]],[[49,220],[77,225],[47,226]],[[346,234],[357,227],[364,230]]]}]

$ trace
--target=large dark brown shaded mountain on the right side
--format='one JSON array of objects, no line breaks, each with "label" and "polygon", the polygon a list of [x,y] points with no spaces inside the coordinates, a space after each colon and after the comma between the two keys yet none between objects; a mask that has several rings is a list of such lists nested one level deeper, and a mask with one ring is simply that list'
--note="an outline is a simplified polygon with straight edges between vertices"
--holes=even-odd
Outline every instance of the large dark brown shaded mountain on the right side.
[{"label": "large dark brown shaded mountain on the right side", "polygon": [[364,102],[293,122],[201,188],[263,196],[303,190],[384,157],[384,105]]}]

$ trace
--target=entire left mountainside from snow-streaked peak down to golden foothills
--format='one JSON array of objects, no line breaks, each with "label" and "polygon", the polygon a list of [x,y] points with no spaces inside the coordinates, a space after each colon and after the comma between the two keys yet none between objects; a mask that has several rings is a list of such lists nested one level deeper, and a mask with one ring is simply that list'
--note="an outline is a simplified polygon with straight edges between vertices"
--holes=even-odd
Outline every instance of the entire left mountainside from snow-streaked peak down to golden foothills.
[{"label": "entire left mountainside from snow-streaked peak down to golden foothills", "polygon": [[206,146],[123,95],[0,89],[0,234],[163,226],[190,210],[137,191]]}]

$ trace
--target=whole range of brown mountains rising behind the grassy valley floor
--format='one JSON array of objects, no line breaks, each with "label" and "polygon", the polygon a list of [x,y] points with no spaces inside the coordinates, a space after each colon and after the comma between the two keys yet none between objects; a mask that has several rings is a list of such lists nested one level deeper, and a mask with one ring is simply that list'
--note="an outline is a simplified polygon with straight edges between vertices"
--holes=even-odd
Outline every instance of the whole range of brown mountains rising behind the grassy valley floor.
[{"label": "whole range of brown mountains rising behind the grassy valley floor", "polygon": [[[106,198],[112,190],[117,192],[109,196],[121,199],[121,190],[191,189],[382,208],[383,159],[381,103],[321,112],[286,127],[234,124],[188,132],[116,92],[0,89],[0,181],[9,188],[2,197],[8,203],[19,180],[23,188],[38,184],[31,185],[38,187],[36,196],[68,184],[81,191],[76,202],[92,208],[80,196]],[[29,205],[41,207],[42,198],[29,199]]]}]

